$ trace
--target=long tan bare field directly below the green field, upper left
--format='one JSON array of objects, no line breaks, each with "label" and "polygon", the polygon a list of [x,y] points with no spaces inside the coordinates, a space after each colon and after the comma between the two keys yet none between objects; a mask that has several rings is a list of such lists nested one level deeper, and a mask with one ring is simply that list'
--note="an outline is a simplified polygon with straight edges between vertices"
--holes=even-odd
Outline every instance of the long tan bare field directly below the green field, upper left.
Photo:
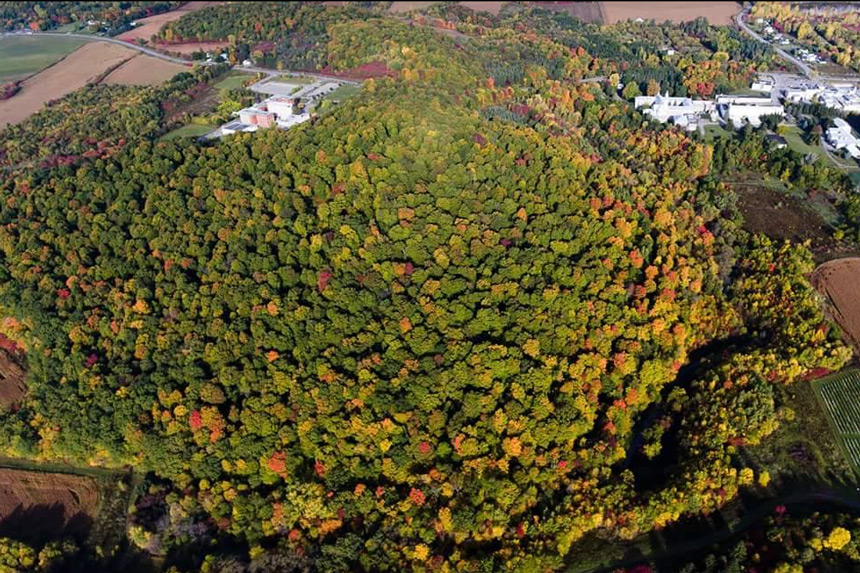
[{"label": "long tan bare field directly below the green field, upper left", "polygon": [[96,79],[108,68],[134,56],[136,52],[105,42],[85,44],[51,66],[31,76],[14,97],[0,102],[0,128],[18,123],[36,113],[45,103]]}]

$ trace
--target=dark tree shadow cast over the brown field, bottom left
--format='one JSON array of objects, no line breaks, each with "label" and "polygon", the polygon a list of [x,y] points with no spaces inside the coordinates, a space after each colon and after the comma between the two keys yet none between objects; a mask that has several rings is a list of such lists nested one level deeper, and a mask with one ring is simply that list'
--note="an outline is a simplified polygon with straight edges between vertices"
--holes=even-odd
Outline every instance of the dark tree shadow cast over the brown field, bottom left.
[{"label": "dark tree shadow cast over the brown field, bottom left", "polygon": [[82,542],[92,526],[92,517],[84,512],[67,519],[66,508],[61,503],[19,505],[12,513],[0,518],[0,537],[34,546],[70,537]]}]

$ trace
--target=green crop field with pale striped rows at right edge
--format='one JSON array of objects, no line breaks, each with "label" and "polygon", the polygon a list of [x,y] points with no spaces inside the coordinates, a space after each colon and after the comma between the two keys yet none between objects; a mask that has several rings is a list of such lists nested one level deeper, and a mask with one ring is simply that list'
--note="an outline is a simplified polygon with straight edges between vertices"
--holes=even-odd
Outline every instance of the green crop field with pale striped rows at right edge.
[{"label": "green crop field with pale striped rows at right edge", "polygon": [[846,458],[860,472],[860,371],[822,378],[813,387]]}]

